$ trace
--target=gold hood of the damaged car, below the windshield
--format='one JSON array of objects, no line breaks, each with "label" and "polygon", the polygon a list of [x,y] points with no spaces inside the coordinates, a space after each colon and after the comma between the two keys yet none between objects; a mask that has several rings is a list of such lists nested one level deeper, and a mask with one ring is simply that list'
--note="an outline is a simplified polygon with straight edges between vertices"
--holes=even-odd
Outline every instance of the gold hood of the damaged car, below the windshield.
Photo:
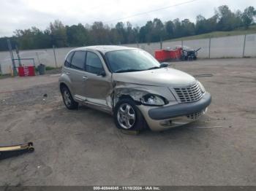
[{"label": "gold hood of the damaged car, below the windshield", "polygon": [[191,75],[170,68],[113,73],[113,81],[165,87],[186,87],[196,83],[196,79]]}]

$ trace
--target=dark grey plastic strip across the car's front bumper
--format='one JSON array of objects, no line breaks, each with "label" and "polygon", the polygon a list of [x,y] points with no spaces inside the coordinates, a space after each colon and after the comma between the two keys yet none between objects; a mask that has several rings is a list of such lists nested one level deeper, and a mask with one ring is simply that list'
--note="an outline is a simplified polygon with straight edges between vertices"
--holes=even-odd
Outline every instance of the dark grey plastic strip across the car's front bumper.
[{"label": "dark grey plastic strip across the car's front bumper", "polygon": [[180,117],[187,114],[193,114],[206,109],[211,104],[210,93],[205,93],[200,101],[187,104],[176,104],[173,106],[164,106],[148,110],[148,116],[152,120],[165,120],[173,117]]}]

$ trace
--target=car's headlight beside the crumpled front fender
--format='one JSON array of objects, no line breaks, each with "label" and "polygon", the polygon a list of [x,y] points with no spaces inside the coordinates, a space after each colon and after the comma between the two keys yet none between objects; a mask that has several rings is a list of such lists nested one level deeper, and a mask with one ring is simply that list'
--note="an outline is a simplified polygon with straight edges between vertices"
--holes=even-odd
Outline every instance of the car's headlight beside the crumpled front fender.
[{"label": "car's headlight beside the crumpled front fender", "polygon": [[167,104],[167,100],[159,95],[147,94],[140,98],[140,101],[144,105],[148,106],[163,106]]}]

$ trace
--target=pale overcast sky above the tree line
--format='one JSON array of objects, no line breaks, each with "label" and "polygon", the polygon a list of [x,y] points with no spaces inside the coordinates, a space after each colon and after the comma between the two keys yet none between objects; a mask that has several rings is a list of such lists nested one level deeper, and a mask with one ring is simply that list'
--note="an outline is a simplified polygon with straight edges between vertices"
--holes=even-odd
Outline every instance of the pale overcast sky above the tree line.
[{"label": "pale overcast sky above the tree line", "polygon": [[223,4],[232,11],[256,8],[255,0],[0,0],[0,37],[31,26],[45,30],[54,20],[69,26],[94,21],[110,26],[129,21],[132,26],[143,26],[155,17],[163,22],[177,17],[195,21],[197,15],[211,17]]}]

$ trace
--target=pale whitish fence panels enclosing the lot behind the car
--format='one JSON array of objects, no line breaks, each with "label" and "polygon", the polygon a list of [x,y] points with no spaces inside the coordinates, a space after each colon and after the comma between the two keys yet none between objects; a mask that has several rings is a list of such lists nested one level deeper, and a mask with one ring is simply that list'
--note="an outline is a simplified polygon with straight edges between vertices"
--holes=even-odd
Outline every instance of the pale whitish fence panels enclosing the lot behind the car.
[{"label": "pale whitish fence panels enclosing the lot behind the car", "polygon": [[[192,47],[197,49],[201,47],[201,50],[198,52],[198,58],[208,58],[209,56],[209,39],[195,39],[187,40],[184,42],[162,42],[162,48],[175,48],[183,44],[187,47]],[[160,49],[160,43],[142,43],[142,44],[124,44],[127,47],[139,47],[143,50],[146,50],[151,55],[154,55],[155,50]],[[64,62],[64,57],[67,55],[67,52],[72,50],[74,47],[67,48],[57,48],[56,49],[56,61],[57,66],[62,66]],[[244,49],[244,35],[239,36],[225,36],[220,38],[211,39],[211,48],[210,55],[211,58],[241,58],[246,57],[256,57],[256,34],[246,35],[245,49]],[[37,59],[37,54],[39,55],[39,60],[41,63],[46,66],[55,67],[53,49],[44,49],[44,50],[23,50],[20,51],[21,58],[34,58],[36,66],[39,64]],[[13,52],[15,58],[17,55]],[[24,65],[32,64],[29,61],[22,61]],[[1,74],[10,73],[10,66],[12,62],[10,59],[9,52],[0,52],[0,65],[1,65]]]}]

